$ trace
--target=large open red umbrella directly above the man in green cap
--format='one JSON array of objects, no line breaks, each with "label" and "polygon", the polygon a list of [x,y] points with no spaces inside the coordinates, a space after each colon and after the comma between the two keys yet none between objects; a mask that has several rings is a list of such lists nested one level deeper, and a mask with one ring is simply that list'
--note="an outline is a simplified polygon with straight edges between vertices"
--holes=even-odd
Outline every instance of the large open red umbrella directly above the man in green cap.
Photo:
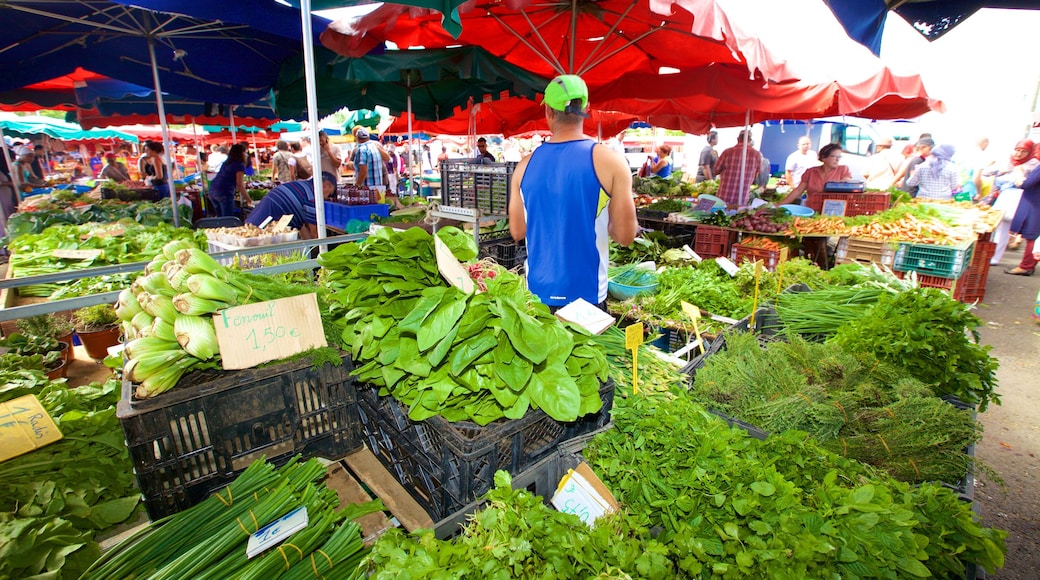
[{"label": "large open red umbrella directly above the man in green cap", "polygon": [[336,21],[321,43],[355,57],[384,41],[400,48],[479,46],[536,74],[577,74],[590,85],[711,62],[740,64],[749,76],[791,78],[783,60],[736,29],[717,0],[473,0],[459,14],[456,38],[440,12],[384,4]]}]

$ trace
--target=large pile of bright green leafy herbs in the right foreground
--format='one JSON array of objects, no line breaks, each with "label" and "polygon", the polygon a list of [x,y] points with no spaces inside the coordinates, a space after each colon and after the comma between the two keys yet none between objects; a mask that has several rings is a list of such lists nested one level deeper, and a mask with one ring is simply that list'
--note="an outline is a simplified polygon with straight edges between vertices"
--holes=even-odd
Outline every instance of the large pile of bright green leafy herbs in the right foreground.
[{"label": "large pile of bright green leafy herbs in the right foreground", "polygon": [[[584,450],[638,528],[659,527],[676,577],[956,576],[1004,564],[1006,532],[937,484],[911,487],[805,433],[766,441],[682,397],[629,397]],[[674,428],[682,425],[682,428]]]}]

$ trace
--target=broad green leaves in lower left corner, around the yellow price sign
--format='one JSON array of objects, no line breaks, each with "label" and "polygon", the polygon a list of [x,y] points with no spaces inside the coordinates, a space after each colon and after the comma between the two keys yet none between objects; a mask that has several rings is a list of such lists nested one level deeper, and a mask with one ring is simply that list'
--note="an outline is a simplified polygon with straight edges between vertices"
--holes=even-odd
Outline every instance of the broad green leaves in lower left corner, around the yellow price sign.
[{"label": "broad green leaves in lower left corner, around the yellow price sign", "polygon": [[98,557],[94,533],[127,520],[140,497],[115,417],[120,381],[3,377],[14,380],[0,400],[35,394],[64,439],[0,464],[0,577],[76,578]]}]

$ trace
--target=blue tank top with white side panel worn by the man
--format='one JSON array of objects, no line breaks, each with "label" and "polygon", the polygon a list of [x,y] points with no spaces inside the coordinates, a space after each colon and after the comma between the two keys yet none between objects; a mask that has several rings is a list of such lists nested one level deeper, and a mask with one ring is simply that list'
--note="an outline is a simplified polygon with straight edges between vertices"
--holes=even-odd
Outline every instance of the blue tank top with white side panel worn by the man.
[{"label": "blue tank top with white side panel worn by the man", "polygon": [[527,287],[544,304],[606,299],[609,197],[596,178],[595,141],[546,142],[520,181],[527,221]]}]

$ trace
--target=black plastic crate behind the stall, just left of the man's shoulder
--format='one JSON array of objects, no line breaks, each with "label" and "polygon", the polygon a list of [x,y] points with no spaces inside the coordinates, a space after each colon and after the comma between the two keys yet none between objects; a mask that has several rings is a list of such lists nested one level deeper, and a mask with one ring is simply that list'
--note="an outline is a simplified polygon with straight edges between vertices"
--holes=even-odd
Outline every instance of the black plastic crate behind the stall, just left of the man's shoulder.
[{"label": "black plastic crate behind the stall, just left of the man's shoulder", "polygon": [[441,203],[445,206],[478,209],[489,215],[509,212],[510,181],[515,162],[441,162]]}]

